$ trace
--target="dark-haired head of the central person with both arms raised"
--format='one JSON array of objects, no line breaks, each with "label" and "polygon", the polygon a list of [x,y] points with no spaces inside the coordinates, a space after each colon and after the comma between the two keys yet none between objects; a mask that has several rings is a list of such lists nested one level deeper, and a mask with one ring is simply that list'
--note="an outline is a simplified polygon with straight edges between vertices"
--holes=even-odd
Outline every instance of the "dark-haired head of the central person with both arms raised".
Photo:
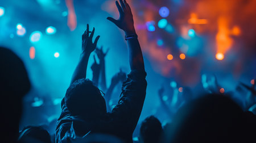
[{"label": "dark-haired head of the central person with both arms raised", "polygon": [[100,119],[106,113],[106,102],[101,91],[89,79],[78,79],[68,88],[65,104],[74,116],[86,120]]}]

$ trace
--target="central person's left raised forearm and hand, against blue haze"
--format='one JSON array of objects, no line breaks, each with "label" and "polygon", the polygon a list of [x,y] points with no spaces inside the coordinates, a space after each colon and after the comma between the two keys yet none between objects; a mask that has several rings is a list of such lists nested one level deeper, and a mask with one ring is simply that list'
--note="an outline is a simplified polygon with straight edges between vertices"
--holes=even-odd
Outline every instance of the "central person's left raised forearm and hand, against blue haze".
[{"label": "central person's left raised forearm and hand, against blue haze", "polygon": [[82,35],[82,51],[80,54],[79,64],[76,66],[75,72],[73,73],[71,83],[73,83],[77,79],[86,78],[86,69],[90,53],[92,53],[95,50],[98,39],[100,38],[100,36],[97,36],[94,43],[92,42],[94,31],[95,28],[93,28],[92,33],[90,33],[89,35],[89,25],[87,24],[86,31]]}]

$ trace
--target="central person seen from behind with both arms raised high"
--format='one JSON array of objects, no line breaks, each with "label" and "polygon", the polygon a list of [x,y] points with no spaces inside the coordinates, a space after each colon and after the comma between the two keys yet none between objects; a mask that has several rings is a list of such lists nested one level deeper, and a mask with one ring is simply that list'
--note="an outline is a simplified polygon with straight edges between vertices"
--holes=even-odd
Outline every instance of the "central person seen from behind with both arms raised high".
[{"label": "central person seen from behind with both arms raised high", "polygon": [[108,18],[125,31],[128,43],[131,73],[123,82],[122,95],[112,112],[106,112],[105,99],[101,91],[86,79],[86,69],[90,53],[97,46],[100,36],[94,43],[94,28],[89,34],[89,25],[82,35],[82,52],[71,85],[61,102],[62,112],[57,122],[56,142],[69,142],[92,133],[112,134],[125,142],[133,142],[133,131],[141,115],[146,96],[146,72],[138,36],[134,29],[133,15],[126,1],[116,5],[120,18]]}]

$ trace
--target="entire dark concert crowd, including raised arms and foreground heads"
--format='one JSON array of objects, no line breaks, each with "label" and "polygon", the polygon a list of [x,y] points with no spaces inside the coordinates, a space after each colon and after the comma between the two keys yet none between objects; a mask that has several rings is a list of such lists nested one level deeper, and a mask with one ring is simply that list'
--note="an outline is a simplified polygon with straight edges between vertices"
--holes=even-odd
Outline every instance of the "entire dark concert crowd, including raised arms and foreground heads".
[{"label": "entire dark concert crowd, including raised arms and foreground heads", "polygon": [[[9,49],[0,48],[1,142],[256,142],[255,85],[249,87],[241,83],[237,87],[236,94],[249,90],[246,100],[241,102],[234,93],[220,92],[216,76],[213,81],[202,81],[207,83],[202,95],[183,87],[178,96],[177,87],[173,87],[168,92],[170,100],[166,100],[166,90],[159,85],[161,109],[172,116],[172,121],[162,125],[155,116],[148,115],[140,124],[135,141],[133,133],[146,97],[147,73],[130,6],[122,0],[115,4],[119,19],[107,19],[125,32],[131,71],[126,75],[120,69],[110,86],[106,86],[105,56],[109,49],[97,48],[100,36],[93,41],[95,28],[90,31],[87,24],[82,34],[80,60],[61,100],[61,115],[56,121],[54,136],[41,126],[28,126],[19,131],[22,99],[30,91],[30,80],[22,60]],[[90,81],[86,71],[94,51]],[[122,88],[118,103],[114,104],[113,90],[119,83]]]}]

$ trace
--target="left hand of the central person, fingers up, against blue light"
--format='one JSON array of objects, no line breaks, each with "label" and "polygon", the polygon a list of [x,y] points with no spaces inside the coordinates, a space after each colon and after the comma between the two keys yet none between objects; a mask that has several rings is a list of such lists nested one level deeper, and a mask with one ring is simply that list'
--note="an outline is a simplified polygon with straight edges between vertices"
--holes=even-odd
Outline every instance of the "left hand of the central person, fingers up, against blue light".
[{"label": "left hand of the central person, fingers up, against blue light", "polygon": [[87,28],[82,35],[82,53],[90,54],[96,49],[97,42],[100,36],[97,36],[93,43],[92,38],[94,35],[94,31],[95,28],[93,27],[93,31],[89,35],[89,24],[87,24]]}]

